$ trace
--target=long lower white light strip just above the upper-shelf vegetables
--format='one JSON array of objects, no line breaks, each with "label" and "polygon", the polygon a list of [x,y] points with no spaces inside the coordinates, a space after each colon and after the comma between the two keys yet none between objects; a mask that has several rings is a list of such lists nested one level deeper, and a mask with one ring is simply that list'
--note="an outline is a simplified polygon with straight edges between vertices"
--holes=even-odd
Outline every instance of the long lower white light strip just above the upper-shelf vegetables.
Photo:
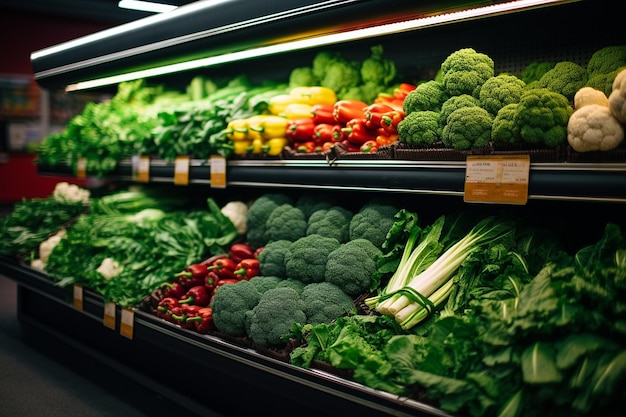
[{"label": "long lower white light strip just above the upper-shelf vegetables", "polygon": [[[228,62],[236,62],[260,56],[273,55],[282,52],[296,51],[312,48],[316,46],[331,45],[357,39],[366,39],[393,33],[406,32],[414,29],[421,29],[429,26],[441,25],[457,20],[471,20],[493,14],[507,13],[515,10],[528,9],[553,3],[567,3],[572,0],[518,0],[507,3],[494,4],[478,7],[475,9],[451,12],[441,15],[429,16],[407,20],[403,22],[389,23],[363,29],[356,29],[345,33],[322,35],[313,38],[301,39],[277,45],[263,46],[260,48],[248,49],[245,51],[231,52],[214,57],[196,59],[178,64],[165,65],[157,68],[129,72],[126,74],[103,77],[95,80],[82,81],[70,84],[65,91],[78,91],[91,88],[103,87],[106,85],[118,84],[124,81],[131,81],[140,78],[149,78],[165,74],[187,71],[195,68],[211,67]],[[574,0],[576,1],[576,0]]]}]

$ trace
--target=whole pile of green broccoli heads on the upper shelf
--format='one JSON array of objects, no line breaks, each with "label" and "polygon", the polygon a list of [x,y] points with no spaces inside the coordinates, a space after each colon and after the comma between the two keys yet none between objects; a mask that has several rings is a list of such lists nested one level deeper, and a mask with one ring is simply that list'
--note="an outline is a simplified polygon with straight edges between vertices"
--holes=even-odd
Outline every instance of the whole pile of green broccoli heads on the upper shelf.
[{"label": "whole pile of green broccoli heads on the upper shelf", "polygon": [[[575,93],[588,86],[610,94],[624,67],[626,45],[597,50],[586,67],[571,61],[533,62],[519,75],[496,74],[488,55],[459,49],[446,57],[434,79],[407,96],[399,141],[413,148],[455,151],[490,145],[555,149],[568,143]],[[603,150],[619,144],[607,140]]]}]

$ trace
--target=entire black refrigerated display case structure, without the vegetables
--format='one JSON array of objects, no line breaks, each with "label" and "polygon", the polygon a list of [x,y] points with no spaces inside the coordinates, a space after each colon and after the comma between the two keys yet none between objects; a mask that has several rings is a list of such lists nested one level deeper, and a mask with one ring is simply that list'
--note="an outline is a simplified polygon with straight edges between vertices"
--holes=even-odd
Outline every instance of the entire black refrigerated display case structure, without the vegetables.
[{"label": "entire black refrigerated display case structure, without the vegetables", "polygon": [[[510,5],[517,7],[505,7]],[[197,74],[245,73],[255,80],[285,81],[292,68],[309,65],[319,51],[362,60],[373,44],[384,47],[407,80],[434,78],[441,62],[460,48],[488,54],[496,73],[519,74],[531,62],[584,65],[594,51],[626,44],[623,18],[611,7],[591,0],[200,1],[168,16],[103,31],[104,36],[36,51],[32,63],[42,87],[68,91],[108,89],[123,80],[118,76],[133,72],[149,82],[173,86],[186,85]],[[456,13],[465,9],[474,13],[456,20]],[[352,35],[340,36],[346,34]],[[288,48],[281,50],[281,45]],[[185,69],[185,63],[196,67]],[[162,66],[173,72],[149,72]],[[589,230],[608,221],[626,226],[624,155],[623,146],[593,157],[571,149],[550,158],[530,155],[527,201],[511,206],[464,201],[466,155],[450,160],[236,158],[226,162],[224,187],[212,187],[208,161],[192,158],[185,186],[190,194],[230,193],[243,199],[274,190],[293,195],[321,191],[343,199],[382,196],[433,215],[451,208],[488,213],[506,207],[520,216],[545,216],[546,222],[557,214],[563,224],[571,222],[571,237],[576,239],[574,229],[587,231],[581,222]],[[135,169],[132,159],[123,160],[105,180],[133,183]],[[39,172],[75,173],[72,167],[45,165]],[[149,183],[173,183],[174,178],[173,162],[150,161]],[[80,289],[77,300],[76,288],[60,288],[24,262],[3,257],[0,273],[19,285],[18,314],[25,330],[43,332],[60,345],[105,362],[179,402],[181,410],[202,414],[211,409],[225,415],[233,410],[281,416],[448,415],[427,398],[370,389],[333,370],[301,369],[287,363],[280,351],[258,351],[183,329],[139,308],[111,306],[88,288]]]}]

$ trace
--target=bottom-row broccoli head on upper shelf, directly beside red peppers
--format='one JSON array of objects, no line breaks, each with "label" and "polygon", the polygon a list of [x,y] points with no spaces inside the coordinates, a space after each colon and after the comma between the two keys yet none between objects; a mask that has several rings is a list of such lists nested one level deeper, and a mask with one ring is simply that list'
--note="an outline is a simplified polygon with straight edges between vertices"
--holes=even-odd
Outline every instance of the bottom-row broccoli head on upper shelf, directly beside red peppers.
[{"label": "bottom-row broccoli head on upper shelf, directly beside red peppers", "polygon": [[439,112],[414,111],[398,123],[398,140],[409,146],[432,145],[441,140]]}]

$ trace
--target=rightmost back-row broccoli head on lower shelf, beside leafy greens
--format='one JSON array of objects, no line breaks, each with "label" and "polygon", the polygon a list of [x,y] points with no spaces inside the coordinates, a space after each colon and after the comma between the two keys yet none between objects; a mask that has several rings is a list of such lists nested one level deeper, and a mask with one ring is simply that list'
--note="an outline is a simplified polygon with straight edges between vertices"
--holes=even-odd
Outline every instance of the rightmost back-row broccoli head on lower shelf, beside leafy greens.
[{"label": "rightmost back-row broccoli head on lower shelf, beside leafy greens", "polygon": [[397,212],[396,206],[383,200],[364,204],[350,220],[350,240],[367,239],[377,248],[382,248]]}]

